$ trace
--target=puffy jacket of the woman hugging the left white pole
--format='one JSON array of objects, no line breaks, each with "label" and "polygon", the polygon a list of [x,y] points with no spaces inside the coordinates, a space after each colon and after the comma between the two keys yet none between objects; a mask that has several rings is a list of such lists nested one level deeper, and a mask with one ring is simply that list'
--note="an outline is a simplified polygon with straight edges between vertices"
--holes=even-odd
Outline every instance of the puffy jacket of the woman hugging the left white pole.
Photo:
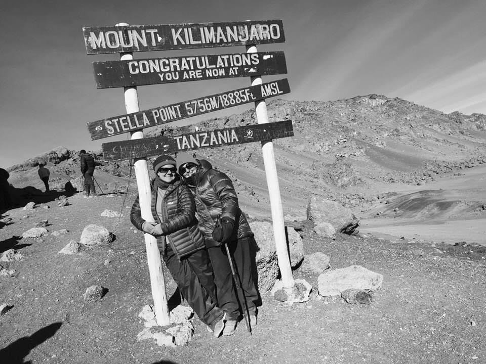
[{"label": "puffy jacket of the woman hugging the left white pole", "polygon": [[[152,216],[157,223],[161,224],[162,231],[166,234],[157,238],[159,250],[164,253],[164,238],[179,259],[204,249],[204,236],[197,228],[196,206],[189,188],[180,180],[169,186],[162,204],[162,221],[156,212],[157,196],[157,188],[154,188],[152,181]],[[130,221],[138,230],[142,230],[145,220],[142,218],[138,196],[130,212]]]}]

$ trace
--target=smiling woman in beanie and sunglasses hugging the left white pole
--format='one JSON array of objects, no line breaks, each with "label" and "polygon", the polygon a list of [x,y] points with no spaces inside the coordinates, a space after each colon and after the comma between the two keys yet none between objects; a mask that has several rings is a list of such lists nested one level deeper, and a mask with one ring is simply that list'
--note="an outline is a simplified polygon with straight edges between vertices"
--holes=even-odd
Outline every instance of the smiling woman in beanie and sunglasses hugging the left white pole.
[{"label": "smiling woman in beanie and sunglasses hugging the left white pole", "polygon": [[204,236],[197,228],[195,204],[189,188],[177,174],[176,161],[161,155],[153,163],[151,210],[155,221],[145,221],[137,196],[130,220],[135,227],[157,238],[158,248],[174,281],[215,337],[224,329],[224,311],[216,305],[213,267]]}]

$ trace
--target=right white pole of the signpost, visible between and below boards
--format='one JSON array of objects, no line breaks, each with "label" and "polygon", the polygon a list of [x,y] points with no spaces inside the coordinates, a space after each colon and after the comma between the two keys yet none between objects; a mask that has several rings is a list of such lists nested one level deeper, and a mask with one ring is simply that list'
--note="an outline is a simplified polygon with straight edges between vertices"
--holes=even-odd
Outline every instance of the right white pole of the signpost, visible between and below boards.
[{"label": "right white pole of the signpost, visible between and below boards", "polygon": [[[252,45],[247,47],[247,53],[256,53],[257,47]],[[262,84],[262,78],[251,77],[252,86]],[[268,123],[267,104],[265,100],[255,102],[257,122],[259,124]],[[277,167],[275,165],[275,155],[273,153],[273,142],[262,142],[263,164],[267,177],[268,194],[270,196],[270,208],[272,211],[273,236],[275,237],[275,250],[277,252],[278,267],[282,275],[282,285],[284,288],[294,287],[294,277],[290,265],[289,252],[287,251],[287,239],[285,236],[284,210],[280,198],[280,187],[278,185]]]}]

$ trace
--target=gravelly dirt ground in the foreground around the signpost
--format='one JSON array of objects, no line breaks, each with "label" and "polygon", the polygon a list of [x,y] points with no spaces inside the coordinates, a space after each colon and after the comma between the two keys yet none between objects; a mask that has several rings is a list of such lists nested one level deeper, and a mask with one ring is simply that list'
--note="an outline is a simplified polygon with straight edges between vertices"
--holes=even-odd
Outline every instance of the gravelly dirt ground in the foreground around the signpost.
[{"label": "gravelly dirt ground in the foreground around the signpost", "polygon": [[[309,224],[300,232],[306,255],[321,251],[330,256],[331,268],[359,264],[384,276],[371,305],[326,303],[317,294],[318,276],[296,270],[296,278],[313,286],[310,300],[288,306],[263,295],[253,337],[239,325],[234,336],[214,339],[194,319],[195,335],[186,347],[137,342],[143,330],[137,315],[151,303],[142,235],[131,229],[127,208],[119,224],[100,217],[106,208],[119,211],[122,195],[69,200],[63,209],[53,201],[45,204],[49,209],[39,206],[31,213],[12,210],[12,223],[0,229],[1,250],[13,246],[24,255],[2,262],[16,274],[0,278],[0,303],[12,306],[0,316],[0,354],[17,353],[14,363],[486,361],[484,252],[471,255],[465,248],[459,254],[446,245],[373,237],[339,235],[333,241],[316,236]],[[44,218],[50,232],[67,229],[69,234],[12,240]],[[88,223],[105,225],[116,240],[78,255],[57,254],[70,239],[79,239]],[[83,293],[95,284],[108,289],[106,296],[84,303]]]}]

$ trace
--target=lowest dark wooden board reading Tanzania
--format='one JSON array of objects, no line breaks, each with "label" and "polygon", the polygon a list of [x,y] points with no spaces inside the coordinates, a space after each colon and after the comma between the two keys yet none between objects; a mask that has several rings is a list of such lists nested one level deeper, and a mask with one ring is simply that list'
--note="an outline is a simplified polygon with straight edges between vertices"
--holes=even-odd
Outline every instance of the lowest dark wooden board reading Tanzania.
[{"label": "lowest dark wooden board reading Tanzania", "polygon": [[292,121],[286,120],[211,131],[198,130],[182,135],[156,136],[154,138],[103,143],[102,148],[105,162],[112,162],[155,156],[163,153],[269,141],[293,135]]}]

